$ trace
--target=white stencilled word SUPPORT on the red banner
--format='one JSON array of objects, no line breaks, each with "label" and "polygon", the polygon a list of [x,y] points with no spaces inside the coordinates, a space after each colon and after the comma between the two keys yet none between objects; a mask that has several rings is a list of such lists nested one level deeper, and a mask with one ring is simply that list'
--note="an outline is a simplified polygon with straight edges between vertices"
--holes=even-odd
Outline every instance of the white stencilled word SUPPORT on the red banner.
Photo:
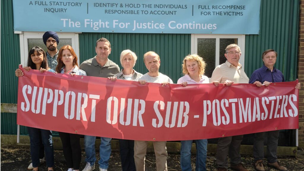
[{"label": "white stencilled word SUPPORT on the red banner", "polygon": [[[39,91],[38,91],[39,88]],[[26,89],[28,90],[26,92]],[[37,95],[38,91],[38,95]],[[42,97],[44,91],[44,96]],[[67,119],[73,119],[74,118],[74,112],[75,112],[75,102],[76,102],[76,94],[73,91],[68,91],[65,95],[62,90],[52,90],[48,88],[43,87],[32,87],[30,85],[24,85],[22,87],[22,94],[24,97],[25,102],[21,102],[21,110],[24,112],[29,111],[29,108],[31,106],[32,113],[41,113],[43,115],[46,114],[47,104],[48,103],[54,103],[53,104],[53,116],[57,117],[57,106],[62,105],[64,103],[64,117]],[[27,94],[32,94],[32,100],[29,101]],[[64,98],[65,96],[65,98]],[[71,96],[71,100],[70,100]],[[60,97],[60,100],[58,101],[58,97]],[[92,99],[92,110],[91,110],[91,122],[95,122],[95,106],[96,106],[96,99],[99,99],[99,95],[93,95],[90,94],[89,98]],[[37,99],[37,102],[36,102]],[[54,101],[53,101],[54,99]],[[84,103],[81,104],[81,99],[84,99]],[[42,102],[42,107],[40,106]],[[71,103],[70,103],[71,102]],[[35,108],[36,105],[36,108]],[[85,93],[78,93],[77,96],[77,109],[76,109],[76,120],[80,120],[80,115],[82,114],[82,120],[87,121],[86,115],[85,115],[85,108],[88,105],[88,95]],[[41,109],[41,111],[40,111]],[[70,115],[68,114],[70,111]]]}]

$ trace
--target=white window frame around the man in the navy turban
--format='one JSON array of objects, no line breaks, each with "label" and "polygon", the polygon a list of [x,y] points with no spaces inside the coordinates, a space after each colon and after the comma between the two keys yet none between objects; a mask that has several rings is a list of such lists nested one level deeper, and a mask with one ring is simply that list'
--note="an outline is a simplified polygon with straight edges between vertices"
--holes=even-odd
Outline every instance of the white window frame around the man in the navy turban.
[{"label": "white window frame around the man in the navy turban", "polygon": [[[20,34],[20,60],[21,64],[23,66],[26,66],[27,58],[29,54],[29,47],[28,47],[28,39],[42,39],[42,36],[45,32],[22,32],[22,31],[15,31],[15,34]],[[78,40],[78,34],[79,33],[66,33],[66,32],[60,32],[57,33],[59,39],[71,39],[72,44],[76,55],[78,56],[78,65],[80,64],[80,58],[79,58],[79,40]],[[59,42],[60,43],[60,42]],[[59,49],[58,49],[59,51]]]}]

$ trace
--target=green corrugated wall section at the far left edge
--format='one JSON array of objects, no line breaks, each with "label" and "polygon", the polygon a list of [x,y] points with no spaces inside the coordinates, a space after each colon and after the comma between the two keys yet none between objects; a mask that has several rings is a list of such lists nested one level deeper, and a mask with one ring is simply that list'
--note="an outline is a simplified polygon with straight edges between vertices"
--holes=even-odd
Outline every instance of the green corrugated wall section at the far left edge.
[{"label": "green corrugated wall section at the far left edge", "polygon": [[[17,103],[20,64],[19,34],[14,34],[13,3],[1,0],[1,103]],[[17,134],[16,113],[1,113],[1,134]],[[21,134],[27,134],[21,127]]]}]

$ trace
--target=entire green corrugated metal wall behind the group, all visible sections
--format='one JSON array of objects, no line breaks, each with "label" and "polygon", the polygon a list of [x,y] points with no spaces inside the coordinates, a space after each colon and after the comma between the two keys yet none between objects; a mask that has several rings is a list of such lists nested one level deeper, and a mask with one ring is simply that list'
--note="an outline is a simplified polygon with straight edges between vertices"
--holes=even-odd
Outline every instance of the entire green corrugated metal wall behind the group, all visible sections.
[{"label": "entire green corrugated metal wall behind the group, all visible sections", "polygon": [[[299,0],[262,0],[260,35],[246,35],[245,71],[248,76],[262,66],[261,54],[268,48],[278,52],[276,67],[286,80],[295,80],[297,69],[299,32]],[[155,51],[161,57],[160,72],[174,82],[181,76],[181,61],[189,54],[189,34],[135,34],[135,33],[81,33],[79,48],[81,62],[92,58],[95,41],[100,37],[110,40],[109,58],[120,64],[119,54],[125,49],[134,51],[138,60],[135,70],[147,72],[143,54]],[[15,69],[20,63],[19,35],[13,31],[12,0],[1,0],[1,103],[17,103],[17,78]],[[21,127],[21,134],[27,134]],[[16,114],[1,113],[1,134],[16,134]]]}]

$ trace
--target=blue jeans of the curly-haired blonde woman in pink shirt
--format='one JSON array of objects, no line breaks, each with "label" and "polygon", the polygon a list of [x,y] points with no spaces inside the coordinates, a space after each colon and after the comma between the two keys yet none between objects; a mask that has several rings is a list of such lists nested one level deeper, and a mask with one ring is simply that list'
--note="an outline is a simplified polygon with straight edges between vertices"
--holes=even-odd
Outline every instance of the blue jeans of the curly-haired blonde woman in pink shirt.
[{"label": "blue jeans of the curly-haired blonde woman in pink shirt", "polygon": [[181,141],[181,170],[191,171],[191,147],[192,141],[195,141],[196,145],[196,171],[206,170],[206,158],[207,158],[207,139],[202,140],[187,140]]}]

